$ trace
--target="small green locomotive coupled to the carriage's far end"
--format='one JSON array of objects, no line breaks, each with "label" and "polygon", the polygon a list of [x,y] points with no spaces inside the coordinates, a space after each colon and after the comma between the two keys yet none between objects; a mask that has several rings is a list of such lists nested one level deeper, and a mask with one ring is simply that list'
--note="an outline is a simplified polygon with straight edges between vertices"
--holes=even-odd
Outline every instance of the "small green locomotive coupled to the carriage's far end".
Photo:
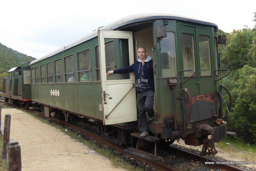
[{"label": "small green locomotive coupled to the carriage's far end", "polygon": [[3,79],[3,92],[0,96],[4,97],[6,102],[29,107],[30,86],[29,62],[25,62],[8,71],[8,76]]}]

